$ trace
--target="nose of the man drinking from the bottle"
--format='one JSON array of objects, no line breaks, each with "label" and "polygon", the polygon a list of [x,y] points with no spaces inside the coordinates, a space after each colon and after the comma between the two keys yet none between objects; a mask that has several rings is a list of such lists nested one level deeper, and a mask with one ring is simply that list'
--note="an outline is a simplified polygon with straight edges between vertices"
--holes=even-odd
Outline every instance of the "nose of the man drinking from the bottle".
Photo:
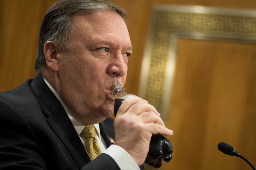
[{"label": "nose of the man drinking from the bottle", "polygon": [[111,57],[110,66],[107,73],[112,77],[122,77],[127,73],[128,58],[124,58],[121,52],[116,53]]}]

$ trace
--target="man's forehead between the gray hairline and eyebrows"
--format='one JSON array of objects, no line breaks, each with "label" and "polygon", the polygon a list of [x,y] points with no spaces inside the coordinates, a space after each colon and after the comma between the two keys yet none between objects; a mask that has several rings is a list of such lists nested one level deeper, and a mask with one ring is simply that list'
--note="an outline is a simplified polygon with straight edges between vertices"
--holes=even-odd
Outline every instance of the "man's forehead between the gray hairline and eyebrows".
[{"label": "man's forehead between the gray hairline and eyebrows", "polygon": [[123,18],[113,11],[75,15],[72,19],[73,35],[85,39],[122,39],[130,43]]}]

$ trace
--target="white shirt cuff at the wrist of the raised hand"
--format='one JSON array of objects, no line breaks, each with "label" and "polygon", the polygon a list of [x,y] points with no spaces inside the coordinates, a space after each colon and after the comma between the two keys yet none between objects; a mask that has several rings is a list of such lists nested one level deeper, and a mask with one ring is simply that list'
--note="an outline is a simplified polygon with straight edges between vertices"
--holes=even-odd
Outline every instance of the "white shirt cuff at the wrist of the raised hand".
[{"label": "white shirt cuff at the wrist of the raised hand", "polygon": [[104,153],[110,155],[121,170],[140,170],[130,154],[120,146],[111,145],[104,151]]}]

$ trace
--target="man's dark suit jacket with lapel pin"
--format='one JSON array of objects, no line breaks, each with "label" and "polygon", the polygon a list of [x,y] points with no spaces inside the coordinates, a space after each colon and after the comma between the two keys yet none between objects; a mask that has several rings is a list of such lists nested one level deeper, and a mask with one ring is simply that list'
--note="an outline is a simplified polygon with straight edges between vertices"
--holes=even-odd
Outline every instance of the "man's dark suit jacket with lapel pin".
[{"label": "man's dark suit jacket with lapel pin", "polygon": [[[100,123],[107,147],[113,119]],[[0,93],[0,169],[119,169],[107,154],[90,162],[64,108],[42,77]]]}]

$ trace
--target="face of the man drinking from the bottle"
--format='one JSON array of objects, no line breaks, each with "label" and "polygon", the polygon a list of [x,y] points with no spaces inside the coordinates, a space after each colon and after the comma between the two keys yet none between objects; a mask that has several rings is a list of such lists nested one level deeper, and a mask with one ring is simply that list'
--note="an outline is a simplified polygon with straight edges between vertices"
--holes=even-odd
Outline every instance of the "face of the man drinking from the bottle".
[{"label": "face of the man drinking from the bottle", "polygon": [[57,91],[78,119],[95,124],[113,113],[110,87],[124,85],[132,45],[116,12],[77,15],[73,26],[70,48],[57,57]]}]

